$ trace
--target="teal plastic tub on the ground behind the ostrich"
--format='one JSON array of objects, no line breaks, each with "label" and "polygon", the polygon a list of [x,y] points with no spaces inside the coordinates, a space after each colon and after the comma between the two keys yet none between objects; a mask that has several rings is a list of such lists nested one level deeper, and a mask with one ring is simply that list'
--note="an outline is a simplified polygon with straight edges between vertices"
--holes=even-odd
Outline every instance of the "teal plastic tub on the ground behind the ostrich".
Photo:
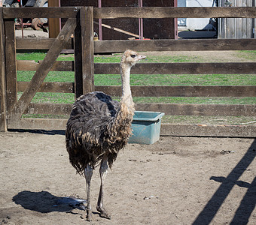
[{"label": "teal plastic tub on the ground behind the ostrich", "polygon": [[164,113],[136,111],[133,115],[132,129],[129,143],[150,145],[160,137],[161,118]]}]

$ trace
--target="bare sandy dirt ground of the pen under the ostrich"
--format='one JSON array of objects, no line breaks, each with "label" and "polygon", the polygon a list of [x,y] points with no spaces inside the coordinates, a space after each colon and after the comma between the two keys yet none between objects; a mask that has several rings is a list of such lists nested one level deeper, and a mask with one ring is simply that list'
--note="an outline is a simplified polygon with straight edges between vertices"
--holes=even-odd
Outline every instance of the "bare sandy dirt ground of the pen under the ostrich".
[{"label": "bare sandy dirt ground of the pen under the ostrich", "polygon": [[256,224],[255,139],[161,136],[127,145],[105,181],[111,220],[96,212],[93,173],[91,223],[69,198],[86,197],[85,181],[62,131],[14,130],[0,142],[0,224]]}]

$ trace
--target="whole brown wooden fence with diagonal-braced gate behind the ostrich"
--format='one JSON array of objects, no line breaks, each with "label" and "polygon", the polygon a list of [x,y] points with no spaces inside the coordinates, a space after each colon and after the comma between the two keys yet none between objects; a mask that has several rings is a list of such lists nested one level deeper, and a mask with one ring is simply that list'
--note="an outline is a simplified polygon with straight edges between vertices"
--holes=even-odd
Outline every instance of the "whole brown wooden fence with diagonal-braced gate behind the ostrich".
[{"label": "whole brown wooden fence with diagonal-braced gate behind the ostrich", "polygon": [[[54,39],[16,38],[15,17],[69,18]],[[70,104],[32,104],[36,92],[83,93],[99,90],[120,96],[120,86],[94,86],[93,74],[120,74],[119,64],[93,63],[97,52],[256,50],[256,39],[211,40],[103,40],[93,41],[93,19],[136,18],[254,18],[256,7],[38,7],[0,8],[0,130],[62,130],[65,119],[22,118],[23,114],[69,115]],[[70,39],[74,34],[74,38]],[[5,37],[5,38],[4,38]],[[74,46],[75,61],[56,61],[62,49]],[[17,61],[20,49],[47,49],[42,62]],[[31,82],[17,82],[17,71],[35,71]],[[74,83],[44,82],[49,71],[75,71]],[[142,63],[132,74],[255,74],[256,62]],[[17,92],[23,92],[17,99]],[[136,96],[256,97],[256,86],[132,86]],[[137,104],[136,110],[166,115],[256,115],[256,105]],[[162,124],[162,135],[256,136],[254,125]]]}]

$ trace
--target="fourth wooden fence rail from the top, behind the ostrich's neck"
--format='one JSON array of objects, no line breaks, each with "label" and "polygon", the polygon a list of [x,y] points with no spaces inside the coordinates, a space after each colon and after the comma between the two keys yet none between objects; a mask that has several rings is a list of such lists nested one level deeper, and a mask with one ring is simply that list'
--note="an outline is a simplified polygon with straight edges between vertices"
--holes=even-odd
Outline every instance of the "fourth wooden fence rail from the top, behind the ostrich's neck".
[{"label": "fourth wooden fence rail from the top, behind the ostrich's neck", "polygon": [[[18,82],[24,92],[29,82]],[[120,96],[120,86],[95,86],[96,91]],[[255,86],[132,86],[133,97],[255,97]],[[46,82],[38,92],[75,93],[75,83]]]}]

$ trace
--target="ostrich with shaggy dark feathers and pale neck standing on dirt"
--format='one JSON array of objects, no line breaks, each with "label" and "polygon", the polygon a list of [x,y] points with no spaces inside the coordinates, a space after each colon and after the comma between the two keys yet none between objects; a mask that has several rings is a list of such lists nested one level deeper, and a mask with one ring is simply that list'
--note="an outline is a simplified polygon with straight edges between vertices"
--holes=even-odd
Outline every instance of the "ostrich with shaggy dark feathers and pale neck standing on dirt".
[{"label": "ostrich with shaggy dark feathers and pale neck standing on dirt", "polygon": [[66,124],[66,148],[70,163],[86,180],[89,221],[92,219],[90,180],[93,169],[99,164],[101,185],[96,209],[101,217],[111,218],[103,207],[103,186],[108,166],[111,168],[118,151],[124,148],[132,133],[134,104],[130,90],[130,69],[143,58],[146,58],[145,55],[139,55],[132,50],[123,53],[120,63],[120,103],[103,92],[82,95],[75,101]]}]

